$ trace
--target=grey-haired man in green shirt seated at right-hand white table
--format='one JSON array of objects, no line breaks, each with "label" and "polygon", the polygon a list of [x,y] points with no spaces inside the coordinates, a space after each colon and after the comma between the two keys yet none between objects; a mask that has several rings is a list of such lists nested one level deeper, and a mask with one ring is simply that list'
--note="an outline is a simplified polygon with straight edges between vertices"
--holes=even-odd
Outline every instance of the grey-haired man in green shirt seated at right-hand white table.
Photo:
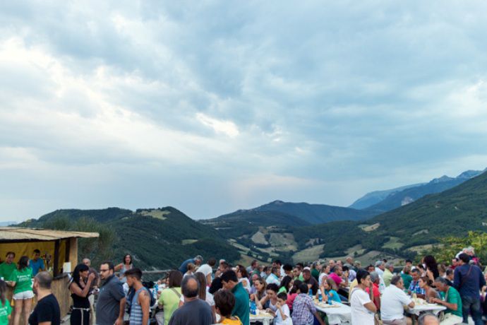
[{"label": "grey-haired man in green shirt seated at right-hand white table", "polygon": [[445,300],[433,298],[431,301],[447,307],[445,310],[445,319],[441,321],[443,325],[455,325],[462,323],[462,298],[457,289],[448,285],[445,278],[435,278],[435,287],[442,293],[445,293]]}]

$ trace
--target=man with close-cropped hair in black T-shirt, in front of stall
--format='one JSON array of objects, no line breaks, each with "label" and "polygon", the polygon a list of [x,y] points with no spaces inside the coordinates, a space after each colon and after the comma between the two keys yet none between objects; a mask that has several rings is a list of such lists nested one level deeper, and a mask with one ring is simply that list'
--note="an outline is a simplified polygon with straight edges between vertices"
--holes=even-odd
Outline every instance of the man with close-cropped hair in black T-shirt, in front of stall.
[{"label": "man with close-cropped hair in black T-shirt, in front of stall", "polygon": [[52,276],[49,272],[39,272],[34,278],[32,290],[37,297],[37,305],[30,314],[30,325],[59,325],[61,310],[56,297],[51,292]]}]

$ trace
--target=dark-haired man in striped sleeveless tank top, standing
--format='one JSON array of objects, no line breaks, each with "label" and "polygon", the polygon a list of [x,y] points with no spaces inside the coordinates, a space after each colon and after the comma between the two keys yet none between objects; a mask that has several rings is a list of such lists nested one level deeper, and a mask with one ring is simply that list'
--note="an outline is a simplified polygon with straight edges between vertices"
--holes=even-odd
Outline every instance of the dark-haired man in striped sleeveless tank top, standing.
[{"label": "dark-haired man in striped sleeveless tank top, standing", "polygon": [[142,285],[142,271],[140,268],[131,268],[125,271],[127,284],[130,288],[136,291],[131,301],[130,318],[128,322],[130,325],[145,325],[149,324],[150,314],[150,293],[147,288]]}]

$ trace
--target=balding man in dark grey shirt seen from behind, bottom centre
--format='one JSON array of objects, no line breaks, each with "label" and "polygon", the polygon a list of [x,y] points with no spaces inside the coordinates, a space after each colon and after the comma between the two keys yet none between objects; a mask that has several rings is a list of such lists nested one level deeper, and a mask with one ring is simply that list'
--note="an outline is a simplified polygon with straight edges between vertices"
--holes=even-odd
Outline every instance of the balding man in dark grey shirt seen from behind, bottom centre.
[{"label": "balding man in dark grey shirt seen from behind, bottom centre", "polygon": [[183,278],[181,282],[181,293],[184,296],[184,305],[176,309],[176,312],[172,314],[171,319],[169,319],[169,325],[213,324],[210,305],[204,300],[198,299],[199,288],[198,280],[194,276],[185,276]]}]

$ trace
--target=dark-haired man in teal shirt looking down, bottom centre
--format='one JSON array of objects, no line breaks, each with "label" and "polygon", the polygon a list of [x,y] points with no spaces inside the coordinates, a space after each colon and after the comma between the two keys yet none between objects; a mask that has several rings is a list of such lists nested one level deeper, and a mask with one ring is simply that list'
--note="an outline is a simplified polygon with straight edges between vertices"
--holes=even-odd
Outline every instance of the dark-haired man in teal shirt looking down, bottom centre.
[{"label": "dark-haired man in teal shirt looking down, bottom centre", "polygon": [[242,283],[239,283],[239,278],[236,277],[235,271],[226,271],[222,274],[221,278],[223,288],[232,291],[235,296],[235,306],[232,310],[232,316],[239,317],[242,325],[249,325],[250,308],[248,306],[249,297],[247,290],[244,289]]}]

